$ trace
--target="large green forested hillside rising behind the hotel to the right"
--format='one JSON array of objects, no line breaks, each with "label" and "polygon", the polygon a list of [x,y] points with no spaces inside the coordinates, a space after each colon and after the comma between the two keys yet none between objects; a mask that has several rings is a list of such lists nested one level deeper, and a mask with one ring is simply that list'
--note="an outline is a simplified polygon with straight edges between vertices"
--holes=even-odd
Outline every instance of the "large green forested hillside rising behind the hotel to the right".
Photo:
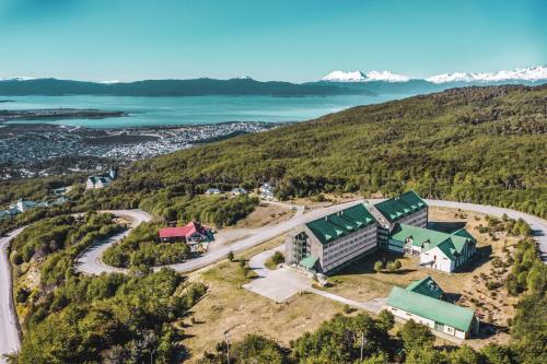
[{"label": "large green forested hillside rising behind the hotel to the right", "polygon": [[[136,163],[88,203],[270,181],[283,199],[398,193],[547,216],[547,85],[452,89],[360,106]],[[159,192],[161,190],[161,192]]]}]

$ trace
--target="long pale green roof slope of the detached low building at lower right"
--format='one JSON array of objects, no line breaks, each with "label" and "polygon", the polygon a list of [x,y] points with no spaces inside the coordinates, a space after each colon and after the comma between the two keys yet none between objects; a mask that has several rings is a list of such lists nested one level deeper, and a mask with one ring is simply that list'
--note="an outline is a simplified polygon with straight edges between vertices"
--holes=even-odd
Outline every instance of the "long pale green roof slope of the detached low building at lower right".
[{"label": "long pale green roof slope of the detached low building at lower right", "polygon": [[451,326],[464,332],[469,330],[475,316],[473,309],[398,286],[393,287],[387,298],[387,305],[431,319],[438,324]]}]

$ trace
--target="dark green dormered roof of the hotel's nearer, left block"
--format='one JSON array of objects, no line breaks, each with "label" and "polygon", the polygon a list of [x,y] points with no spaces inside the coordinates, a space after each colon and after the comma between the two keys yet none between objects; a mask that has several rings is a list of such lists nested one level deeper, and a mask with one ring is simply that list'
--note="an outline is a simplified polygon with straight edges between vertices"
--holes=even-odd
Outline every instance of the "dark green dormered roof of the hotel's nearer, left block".
[{"label": "dark green dormered roof of the hotel's nearer, left block", "polygon": [[375,222],[369,210],[362,203],[359,203],[346,210],[311,221],[306,223],[306,226],[322,244],[328,244]]}]

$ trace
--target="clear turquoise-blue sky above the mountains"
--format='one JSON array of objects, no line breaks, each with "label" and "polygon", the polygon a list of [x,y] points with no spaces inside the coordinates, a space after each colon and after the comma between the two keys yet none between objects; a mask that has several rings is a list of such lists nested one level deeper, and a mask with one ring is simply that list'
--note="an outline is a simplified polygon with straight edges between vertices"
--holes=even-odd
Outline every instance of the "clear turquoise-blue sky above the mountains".
[{"label": "clear turquoise-blue sky above the mountains", "polygon": [[547,63],[544,0],[0,0],[0,77],[139,80]]}]

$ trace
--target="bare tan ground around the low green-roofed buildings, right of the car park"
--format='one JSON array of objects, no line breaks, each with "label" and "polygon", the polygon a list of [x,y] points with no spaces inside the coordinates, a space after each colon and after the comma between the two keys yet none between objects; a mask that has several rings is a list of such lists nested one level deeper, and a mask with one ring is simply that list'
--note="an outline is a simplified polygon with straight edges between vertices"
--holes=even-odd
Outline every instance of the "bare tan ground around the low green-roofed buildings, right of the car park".
[{"label": "bare tan ground around the low green-roofed buildings, right of the car park", "polygon": [[[388,296],[393,285],[404,287],[429,274],[456,304],[476,308],[482,315],[482,322],[492,324],[482,325],[480,338],[468,340],[467,344],[479,348],[491,341],[507,342],[509,340],[507,321],[514,315],[513,304],[516,300],[508,296],[505,289],[498,287],[490,291],[486,284],[503,283],[507,271],[502,267],[494,268],[492,260],[494,257],[500,257],[504,261],[507,257],[503,253],[504,246],[511,251],[516,238],[508,237],[504,233],[497,233],[494,237],[480,234],[477,227],[487,225],[487,221],[485,215],[474,212],[431,208],[429,220],[433,222],[430,224],[432,228],[447,232],[465,225],[477,239],[477,257],[461,271],[449,274],[430,268],[419,268],[417,258],[375,253],[331,277],[329,281],[333,286],[326,290],[348,298],[365,301]],[[400,259],[403,263],[399,272],[376,273],[373,270],[375,261],[395,259]]]}]

